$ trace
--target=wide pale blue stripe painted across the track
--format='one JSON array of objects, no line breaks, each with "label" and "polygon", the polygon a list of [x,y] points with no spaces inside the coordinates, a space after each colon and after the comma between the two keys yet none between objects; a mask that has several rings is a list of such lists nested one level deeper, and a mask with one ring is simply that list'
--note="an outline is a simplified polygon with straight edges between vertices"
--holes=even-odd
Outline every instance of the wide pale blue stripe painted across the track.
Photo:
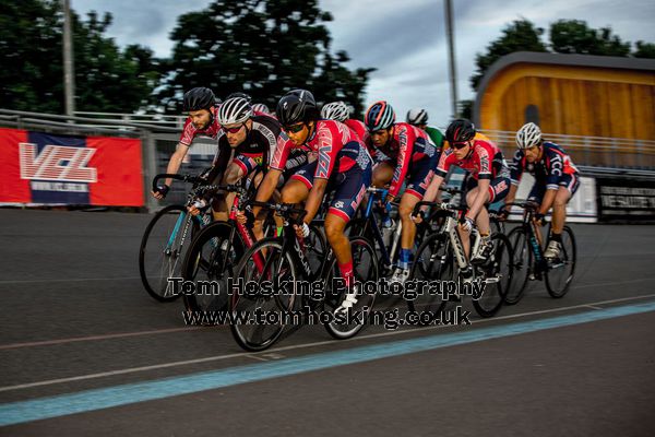
[{"label": "wide pale blue stripe painted across the track", "polygon": [[196,393],[205,390],[297,375],[335,366],[364,363],[372,359],[431,351],[441,347],[587,323],[654,310],[655,302],[620,306],[571,316],[472,329],[448,334],[433,334],[418,339],[398,340],[336,352],[318,353],[297,358],[281,359],[278,362],[259,363],[221,370],[191,374],[181,377],[5,403],[0,405],[0,426]]}]

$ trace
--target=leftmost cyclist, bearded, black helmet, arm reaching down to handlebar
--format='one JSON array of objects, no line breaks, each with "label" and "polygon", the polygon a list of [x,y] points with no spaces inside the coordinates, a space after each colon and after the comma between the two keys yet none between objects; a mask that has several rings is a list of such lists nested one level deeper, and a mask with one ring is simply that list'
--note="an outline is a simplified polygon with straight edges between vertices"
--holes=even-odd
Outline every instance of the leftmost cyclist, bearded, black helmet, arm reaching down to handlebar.
[{"label": "leftmost cyclist, bearded, black helmet, arm reaching down to handlebar", "polygon": [[[187,155],[193,139],[198,135],[211,137],[213,139],[218,134],[221,126],[216,120],[216,99],[214,93],[210,88],[195,87],[184,93],[183,105],[184,113],[189,113],[189,117],[184,122],[184,128],[180,137],[180,141],[176,151],[170,156],[166,173],[177,174],[182,165],[182,160]],[[163,186],[157,187],[157,190],[151,191],[156,199],[164,199],[170,189],[172,179],[168,178]]]}]

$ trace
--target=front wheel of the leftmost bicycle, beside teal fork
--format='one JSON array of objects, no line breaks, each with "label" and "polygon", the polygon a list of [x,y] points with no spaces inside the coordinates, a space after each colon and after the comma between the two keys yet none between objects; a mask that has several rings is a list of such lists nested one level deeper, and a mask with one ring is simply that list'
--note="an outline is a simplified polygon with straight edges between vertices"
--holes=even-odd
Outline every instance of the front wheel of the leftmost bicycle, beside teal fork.
[{"label": "front wheel of the leftmost bicycle, beside teal fork", "polygon": [[139,273],[147,294],[158,302],[179,297],[168,277],[181,276],[182,260],[200,224],[183,205],[168,205],[148,223],[139,249]]}]

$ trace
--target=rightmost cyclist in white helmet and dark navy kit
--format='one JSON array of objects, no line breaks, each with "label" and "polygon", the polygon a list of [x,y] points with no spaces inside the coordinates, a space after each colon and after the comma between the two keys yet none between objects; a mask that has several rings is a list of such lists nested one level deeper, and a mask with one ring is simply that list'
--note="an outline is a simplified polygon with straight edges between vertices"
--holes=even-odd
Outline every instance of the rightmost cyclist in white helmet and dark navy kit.
[{"label": "rightmost cyclist in white helmet and dark navy kit", "polygon": [[[541,130],[533,122],[523,125],[516,132],[519,150],[510,166],[512,187],[507,203],[516,197],[519,181],[527,170],[535,178],[528,200],[539,203],[535,221],[543,224],[552,208],[552,227],[544,258],[553,259],[561,250],[562,231],[567,221],[567,203],[580,186],[580,175],[571,157],[559,145],[544,141]],[[507,211],[504,212],[507,214]]]}]

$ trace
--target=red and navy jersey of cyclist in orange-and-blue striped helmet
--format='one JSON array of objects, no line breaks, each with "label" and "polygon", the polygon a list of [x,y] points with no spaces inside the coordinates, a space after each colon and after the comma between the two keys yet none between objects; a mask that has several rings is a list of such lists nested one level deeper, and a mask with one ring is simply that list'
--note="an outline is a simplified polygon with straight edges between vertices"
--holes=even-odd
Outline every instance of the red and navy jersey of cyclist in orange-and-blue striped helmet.
[{"label": "red and navy jersey of cyclist in orange-and-blue striped helmet", "polygon": [[422,160],[431,160],[437,163],[438,151],[428,134],[406,122],[397,122],[393,127],[393,134],[386,144],[377,147],[371,139],[367,146],[376,161],[395,161],[396,166],[391,179],[389,193],[397,197],[405,177],[414,164]]}]

